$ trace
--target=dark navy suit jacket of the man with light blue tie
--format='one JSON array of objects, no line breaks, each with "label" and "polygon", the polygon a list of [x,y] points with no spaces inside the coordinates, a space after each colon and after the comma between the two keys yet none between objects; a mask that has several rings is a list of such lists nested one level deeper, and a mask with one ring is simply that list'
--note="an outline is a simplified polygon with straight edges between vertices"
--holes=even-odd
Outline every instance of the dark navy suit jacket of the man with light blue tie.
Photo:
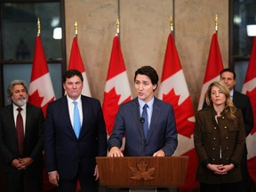
[{"label": "dark navy suit jacket of the man with light blue tie", "polygon": [[78,170],[93,176],[96,156],[107,156],[107,132],[100,101],[81,96],[83,123],[76,138],[68,112],[67,96],[48,105],[44,152],[47,172],[58,171],[60,179],[71,180]]}]

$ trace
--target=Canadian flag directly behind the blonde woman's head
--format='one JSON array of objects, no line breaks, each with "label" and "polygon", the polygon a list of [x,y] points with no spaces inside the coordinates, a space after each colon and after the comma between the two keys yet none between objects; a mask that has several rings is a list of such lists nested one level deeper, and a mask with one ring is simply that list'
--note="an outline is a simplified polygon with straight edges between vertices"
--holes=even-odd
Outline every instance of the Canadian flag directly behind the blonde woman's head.
[{"label": "Canadian flag directly behind the blonde woman's head", "polygon": [[212,35],[212,43],[208,56],[206,71],[204,74],[204,84],[202,87],[200,100],[198,103],[198,110],[203,108],[205,93],[207,88],[213,81],[220,81],[220,71],[223,69],[222,58],[220,54],[220,47],[218,43],[217,32]]}]

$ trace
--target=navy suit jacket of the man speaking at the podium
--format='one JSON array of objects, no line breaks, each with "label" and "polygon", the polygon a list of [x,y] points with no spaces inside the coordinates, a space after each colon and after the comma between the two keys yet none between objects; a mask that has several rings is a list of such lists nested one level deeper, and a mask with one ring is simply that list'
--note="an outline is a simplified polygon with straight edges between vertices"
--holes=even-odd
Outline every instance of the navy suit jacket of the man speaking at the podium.
[{"label": "navy suit jacket of the man speaking at the podium", "polygon": [[172,105],[155,98],[148,138],[144,140],[138,98],[122,104],[108,139],[108,148],[121,148],[124,135],[124,156],[153,156],[160,149],[166,156],[172,156],[178,145]]}]

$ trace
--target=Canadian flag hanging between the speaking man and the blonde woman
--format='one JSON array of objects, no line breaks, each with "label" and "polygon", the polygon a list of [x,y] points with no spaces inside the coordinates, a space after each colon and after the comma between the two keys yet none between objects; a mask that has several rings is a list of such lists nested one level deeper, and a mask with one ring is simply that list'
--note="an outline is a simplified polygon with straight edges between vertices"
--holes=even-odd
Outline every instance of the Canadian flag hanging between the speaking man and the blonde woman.
[{"label": "Canadian flag hanging between the speaking man and the blonde woman", "polygon": [[173,156],[189,157],[185,184],[180,186],[180,191],[190,191],[198,187],[196,181],[197,156],[193,135],[195,115],[172,33],[168,37],[166,46],[158,98],[171,103],[174,108],[179,145]]}]

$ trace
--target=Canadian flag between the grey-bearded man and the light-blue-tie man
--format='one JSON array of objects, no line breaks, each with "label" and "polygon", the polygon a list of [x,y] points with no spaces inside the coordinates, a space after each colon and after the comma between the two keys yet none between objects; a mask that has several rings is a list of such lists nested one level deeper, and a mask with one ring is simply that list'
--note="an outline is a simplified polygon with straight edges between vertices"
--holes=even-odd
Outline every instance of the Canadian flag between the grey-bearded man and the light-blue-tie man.
[{"label": "Canadian flag between the grey-bearded man and the light-blue-tie man", "polygon": [[55,100],[55,94],[40,36],[36,36],[36,48],[28,95],[28,102],[42,108],[45,117],[47,105],[52,100]]}]

